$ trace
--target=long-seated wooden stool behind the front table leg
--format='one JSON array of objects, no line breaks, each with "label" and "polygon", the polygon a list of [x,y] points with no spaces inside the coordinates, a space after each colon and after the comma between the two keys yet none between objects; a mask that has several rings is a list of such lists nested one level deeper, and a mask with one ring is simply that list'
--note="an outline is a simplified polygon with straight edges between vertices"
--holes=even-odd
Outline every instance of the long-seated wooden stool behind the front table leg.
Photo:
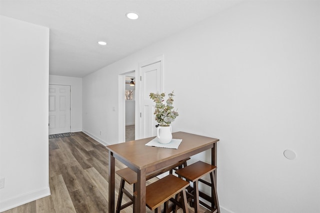
[{"label": "long-seated wooden stool behind the front table leg", "polygon": [[[146,175],[146,180],[149,180],[151,178],[154,178],[164,172],[167,172],[169,171],[170,174],[172,174],[172,170],[177,170],[176,168],[178,169],[181,169],[182,167],[186,167],[186,161],[189,160],[190,158],[186,158],[182,161],[179,161],[175,164],[172,164],[168,167],[165,167],[165,168],[162,168],[162,169],[159,169],[159,170],[156,170],[152,173],[149,173]],[[124,188],[124,185],[125,185],[125,182],[128,183],[129,185],[132,185],[133,184],[133,192],[135,191],[135,183],[137,182],[137,179],[136,179],[136,173],[134,171],[132,171],[130,168],[124,168],[124,169],[121,169],[121,170],[118,170],[118,171],[115,171],[115,173],[120,176],[121,180],[120,180],[120,188],[119,188],[119,195],[118,195],[118,200],[117,200],[117,204],[116,204],[116,209],[115,209],[115,212],[116,213],[120,213],[120,210],[123,210],[124,208],[130,206],[133,204],[133,212],[134,212],[134,197],[132,194],[130,194],[125,188]],[[123,194],[125,194],[129,199],[130,201],[124,205],[121,206],[121,203],[122,203],[122,197],[123,197]]]}]

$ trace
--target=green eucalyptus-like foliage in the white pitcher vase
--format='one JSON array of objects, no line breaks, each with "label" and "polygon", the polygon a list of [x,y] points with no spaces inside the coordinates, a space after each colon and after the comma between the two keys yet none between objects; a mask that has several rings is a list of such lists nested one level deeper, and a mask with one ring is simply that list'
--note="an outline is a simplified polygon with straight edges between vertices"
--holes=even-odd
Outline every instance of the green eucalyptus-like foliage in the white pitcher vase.
[{"label": "green eucalyptus-like foliage in the white pitcher vase", "polygon": [[173,91],[168,94],[166,105],[163,104],[164,93],[150,93],[150,98],[155,102],[155,121],[162,127],[170,126],[174,119],[179,115],[173,110]]}]

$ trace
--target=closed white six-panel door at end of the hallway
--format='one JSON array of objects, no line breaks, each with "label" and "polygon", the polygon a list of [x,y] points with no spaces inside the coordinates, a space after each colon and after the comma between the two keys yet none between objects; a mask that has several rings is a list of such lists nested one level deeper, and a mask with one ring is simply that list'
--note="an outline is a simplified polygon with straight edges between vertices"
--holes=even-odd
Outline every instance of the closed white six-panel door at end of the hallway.
[{"label": "closed white six-panel door at end of the hallway", "polygon": [[70,132],[70,86],[49,85],[49,135]]}]

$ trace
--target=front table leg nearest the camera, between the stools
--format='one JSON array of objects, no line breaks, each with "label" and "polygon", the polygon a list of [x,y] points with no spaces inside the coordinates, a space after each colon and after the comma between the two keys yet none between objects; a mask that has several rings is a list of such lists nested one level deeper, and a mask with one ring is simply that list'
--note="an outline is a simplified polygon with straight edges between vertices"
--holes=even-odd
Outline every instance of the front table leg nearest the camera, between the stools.
[{"label": "front table leg nearest the camera, between the stools", "polygon": [[135,213],[145,213],[145,169],[137,172]]}]

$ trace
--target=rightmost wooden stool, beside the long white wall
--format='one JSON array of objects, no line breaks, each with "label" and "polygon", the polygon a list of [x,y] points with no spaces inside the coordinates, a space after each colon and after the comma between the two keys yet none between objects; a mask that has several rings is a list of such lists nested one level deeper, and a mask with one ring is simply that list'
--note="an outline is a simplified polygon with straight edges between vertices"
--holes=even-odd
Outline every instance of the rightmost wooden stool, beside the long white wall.
[{"label": "rightmost wooden stool, beside the long white wall", "polygon": [[[186,181],[193,183],[192,193],[188,193],[188,195],[193,199],[193,208],[194,212],[199,212],[199,203],[212,211],[212,213],[220,213],[218,196],[216,193],[216,179],[214,176],[214,171],[216,170],[215,166],[210,164],[204,163],[202,161],[198,161],[194,164],[186,166],[182,169],[175,171],[177,175],[184,178]],[[201,178],[206,175],[210,174],[211,183],[208,183]],[[198,182],[201,182],[209,187],[211,187],[211,196],[208,196],[198,190]],[[206,201],[210,202],[212,205],[211,207],[205,204],[202,201],[199,201],[199,195],[201,198],[205,199]]]}]

